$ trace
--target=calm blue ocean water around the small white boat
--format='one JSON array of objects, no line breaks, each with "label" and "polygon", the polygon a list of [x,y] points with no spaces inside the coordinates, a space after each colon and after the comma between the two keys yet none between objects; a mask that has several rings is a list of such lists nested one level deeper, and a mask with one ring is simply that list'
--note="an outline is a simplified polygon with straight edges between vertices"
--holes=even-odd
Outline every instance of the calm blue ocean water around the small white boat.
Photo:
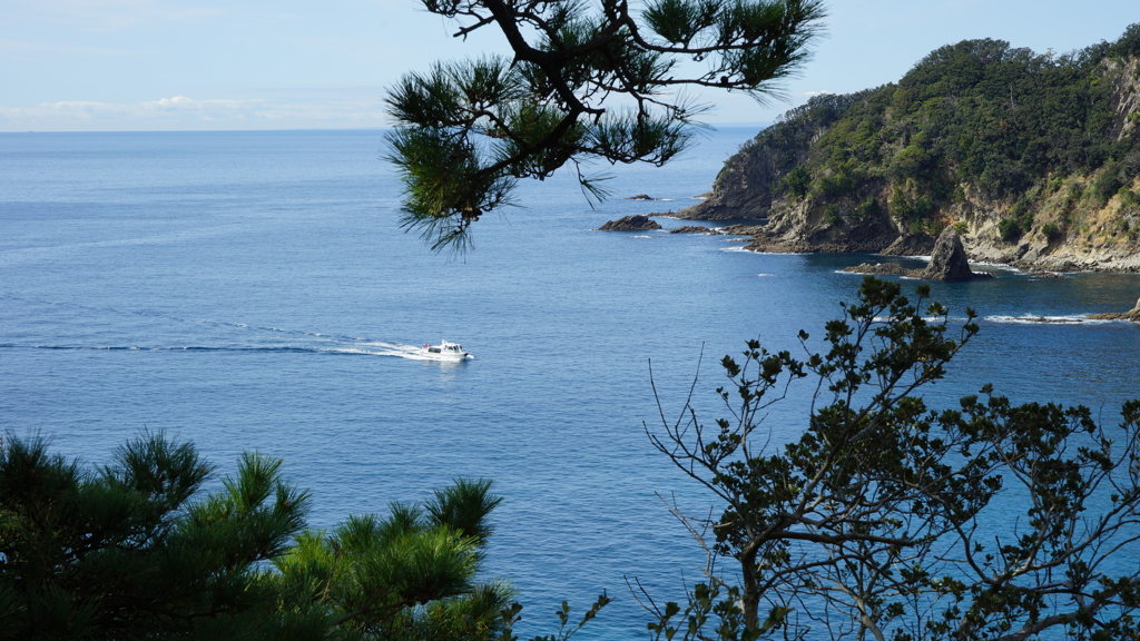
[{"label": "calm blue ocean water around the small white boat", "polygon": [[[527,209],[484,217],[459,258],[398,228],[378,131],[0,135],[0,425],[90,462],[144,428],[222,472],[242,451],[279,456],[316,527],[489,477],[505,500],[488,567],[519,587],[524,632],[606,590],[592,638],[643,638],[622,577],[677,599],[703,560],[658,495],[708,505],[645,436],[650,360],[671,416],[703,349],[711,422],[719,357],[822,333],[860,283],[837,270],[868,257],[592,229],[690,204],[755,133],[719,129],[661,169],[596,168],[614,175],[596,209],[568,177],[526,184]],[[669,201],[621,200],[640,193]],[[992,382],[1112,424],[1140,397],[1140,327],[1027,319],[1129,309],[1140,276],[997,274],[933,285],[982,332],[931,404]],[[405,357],[440,339],[474,359]],[[777,440],[807,393],[769,416]]]}]

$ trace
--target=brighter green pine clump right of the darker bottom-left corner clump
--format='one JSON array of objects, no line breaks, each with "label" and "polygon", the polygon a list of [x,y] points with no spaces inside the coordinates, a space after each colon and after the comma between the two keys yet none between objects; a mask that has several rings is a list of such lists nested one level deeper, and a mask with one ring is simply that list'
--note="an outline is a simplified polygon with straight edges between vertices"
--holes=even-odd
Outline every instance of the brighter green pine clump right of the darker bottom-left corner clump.
[{"label": "brighter green pine clump right of the darker bottom-left corner clump", "polygon": [[491,639],[505,630],[514,592],[475,581],[487,517],[500,501],[490,487],[459,479],[425,506],[393,503],[386,519],[306,532],[275,565],[294,603],[356,638]]}]

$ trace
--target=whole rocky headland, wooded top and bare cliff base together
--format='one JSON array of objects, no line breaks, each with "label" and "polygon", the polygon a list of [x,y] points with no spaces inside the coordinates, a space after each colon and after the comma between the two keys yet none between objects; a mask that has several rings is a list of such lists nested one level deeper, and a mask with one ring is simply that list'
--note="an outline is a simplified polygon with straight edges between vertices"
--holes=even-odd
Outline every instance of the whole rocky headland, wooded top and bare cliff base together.
[{"label": "whole rocky headland, wooded top and bare cliff base together", "polygon": [[813,99],[677,216],[766,218],[758,251],[927,254],[953,227],[976,261],[1140,270],[1140,25],[1060,58],[967,41]]}]

